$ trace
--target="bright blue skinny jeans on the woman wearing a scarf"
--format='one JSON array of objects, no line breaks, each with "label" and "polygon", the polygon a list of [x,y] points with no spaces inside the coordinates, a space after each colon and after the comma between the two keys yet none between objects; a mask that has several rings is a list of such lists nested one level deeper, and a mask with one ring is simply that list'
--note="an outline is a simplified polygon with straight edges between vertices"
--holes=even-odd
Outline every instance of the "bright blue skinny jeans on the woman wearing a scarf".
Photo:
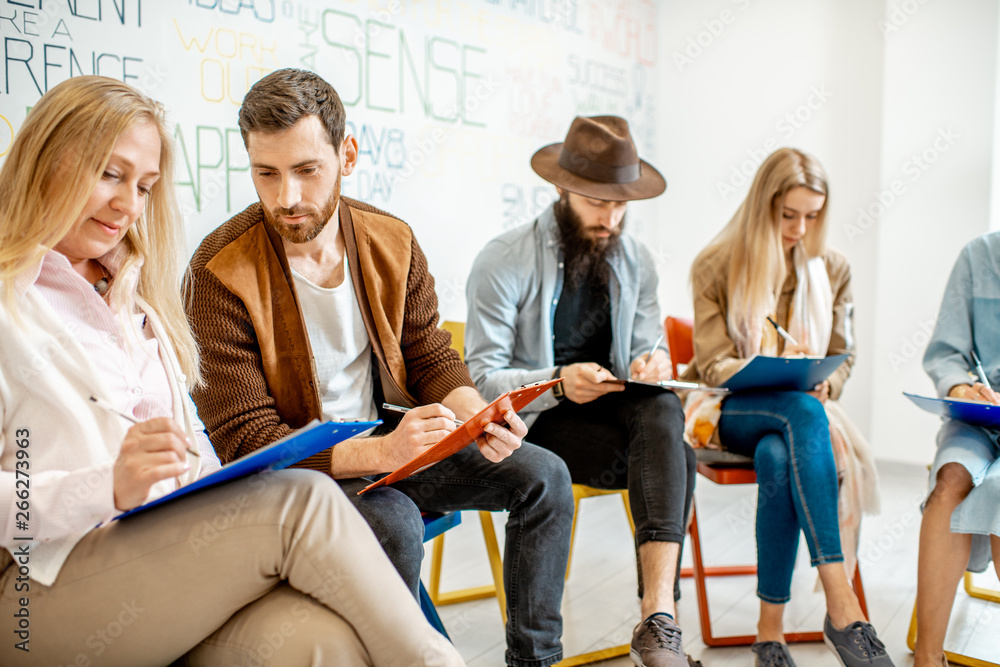
[{"label": "bright blue skinny jeans on the woman wearing a scarf", "polygon": [[813,566],[844,560],[837,467],[823,405],[798,391],[734,394],[722,403],[719,438],[752,456],[757,471],[757,596],[784,604],[805,533]]}]

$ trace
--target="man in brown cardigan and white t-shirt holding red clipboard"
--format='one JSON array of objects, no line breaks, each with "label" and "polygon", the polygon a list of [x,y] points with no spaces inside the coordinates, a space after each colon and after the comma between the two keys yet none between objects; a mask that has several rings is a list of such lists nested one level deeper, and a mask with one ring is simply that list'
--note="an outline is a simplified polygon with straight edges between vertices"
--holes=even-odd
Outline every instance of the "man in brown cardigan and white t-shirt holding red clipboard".
[{"label": "man in brown cardigan and white t-shirt holding red clipboard", "polygon": [[259,203],[202,242],[188,317],[201,346],[198,412],[223,462],[311,419],[389,419],[304,465],[336,478],[416,595],[421,511],[509,510],[507,661],[562,657],[559,612],[573,499],[558,456],[522,444],[510,412],[475,444],[363,496],[373,476],[417,456],[486,405],[437,328],[427,261],[401,220],[340,196],[358,158],[344,108],[322,78],[279,70],[247,93],[240,131]]}]

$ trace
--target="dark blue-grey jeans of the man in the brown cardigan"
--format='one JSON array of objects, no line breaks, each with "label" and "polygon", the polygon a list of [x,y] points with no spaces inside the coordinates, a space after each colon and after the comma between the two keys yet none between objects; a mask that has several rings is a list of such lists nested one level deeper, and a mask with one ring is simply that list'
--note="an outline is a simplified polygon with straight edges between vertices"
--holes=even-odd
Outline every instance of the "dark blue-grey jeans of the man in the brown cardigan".
[{"label": "dark blue-grey jeans of the man in the brown cardigan", "polygon": [[510,511],[503,557],[507,664],[546,667],[562,659],[562,603],[573,525],[573,491],[555,454],[525,443],[500,463],[476,445],[363,496],[364,479],[338,480],[368,521],[414,596],[423,559],[420,512]]}]

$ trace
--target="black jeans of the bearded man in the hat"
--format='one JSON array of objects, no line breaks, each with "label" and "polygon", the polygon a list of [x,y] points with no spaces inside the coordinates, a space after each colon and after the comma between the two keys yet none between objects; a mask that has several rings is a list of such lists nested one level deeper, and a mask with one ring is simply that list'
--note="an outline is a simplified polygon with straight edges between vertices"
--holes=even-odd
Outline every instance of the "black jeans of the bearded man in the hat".
[{"label": "black jeans of the bearded man in the hat", "polygon": [[575,484],[627,488],[637,549],[684,542],[697,462],[673,392],[629,387],[590,403],[564,400],[538,416],[527,439],[562,457]]}]

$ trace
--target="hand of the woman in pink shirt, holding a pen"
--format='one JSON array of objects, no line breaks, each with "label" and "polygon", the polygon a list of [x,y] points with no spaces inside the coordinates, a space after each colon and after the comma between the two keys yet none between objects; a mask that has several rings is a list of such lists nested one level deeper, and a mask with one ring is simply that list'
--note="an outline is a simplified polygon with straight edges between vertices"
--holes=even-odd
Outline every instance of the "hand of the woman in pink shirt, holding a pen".
[{"label": "hand of the woman in pink shirt, holding a pen", "polygon": [[181,427],[167,417],[130,428],[115,459],[115,507],[122,511],[138,507],[154,484],[187,472],[189,446]]}]

